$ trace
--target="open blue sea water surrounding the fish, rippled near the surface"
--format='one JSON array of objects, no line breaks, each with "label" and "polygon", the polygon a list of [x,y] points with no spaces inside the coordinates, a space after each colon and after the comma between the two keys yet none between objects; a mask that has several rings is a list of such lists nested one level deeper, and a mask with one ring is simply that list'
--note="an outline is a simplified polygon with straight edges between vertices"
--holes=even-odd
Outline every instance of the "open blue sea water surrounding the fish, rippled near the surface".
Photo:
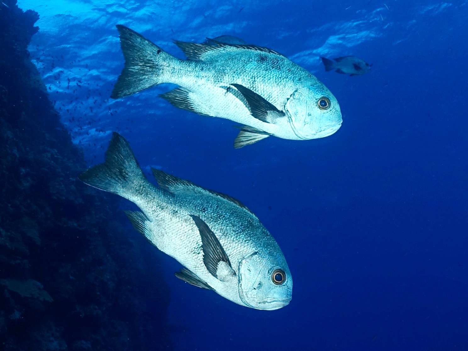
[{"label": "open blue sea water surrounding the fish, rippled near the surface", "polygon": [[[285,254],[293,299],[270,312],[184,284],[161,253],[176,350],[468,350],[468,2],[385,1],[18,1],[41,16],[31,57],[88,165],[118,131],[147,170],[241,200]],[[225,34],[281,52],[343,125],[235,150],[231,121],[169,105],[169,85],[111,100],[116,24],[180,58],[173,39]],[[324,71],[345,55],[372,72]]]}]

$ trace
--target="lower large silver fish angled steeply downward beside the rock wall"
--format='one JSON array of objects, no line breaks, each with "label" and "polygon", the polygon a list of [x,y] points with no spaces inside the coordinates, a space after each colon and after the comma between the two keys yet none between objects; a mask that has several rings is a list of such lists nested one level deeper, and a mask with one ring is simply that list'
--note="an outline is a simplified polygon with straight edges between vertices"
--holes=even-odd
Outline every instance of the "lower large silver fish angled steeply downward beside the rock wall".
[{"label": "lower large silver fish angled steeply downward beside the rock wall", "polygon": [[176,277],[242,306],[274,310],[291,300],[292,278],[276,241],[234,198],[158,169],[151,184],[128,142],[114,132],[104,163],[79,178],[135,203],[133,227],[185,267]]}]

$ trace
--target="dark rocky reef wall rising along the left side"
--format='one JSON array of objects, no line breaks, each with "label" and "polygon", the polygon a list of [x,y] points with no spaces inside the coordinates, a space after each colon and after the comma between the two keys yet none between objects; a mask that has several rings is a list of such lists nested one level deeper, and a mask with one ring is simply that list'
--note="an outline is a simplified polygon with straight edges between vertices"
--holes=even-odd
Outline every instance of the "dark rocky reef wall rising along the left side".
[{"label": "dark rocky reef wall rising along the left side", "polygon": [[0,349],[170,349],[158,253],[77,180],[82,151],[27,51],[38,15],[2,2]]}]

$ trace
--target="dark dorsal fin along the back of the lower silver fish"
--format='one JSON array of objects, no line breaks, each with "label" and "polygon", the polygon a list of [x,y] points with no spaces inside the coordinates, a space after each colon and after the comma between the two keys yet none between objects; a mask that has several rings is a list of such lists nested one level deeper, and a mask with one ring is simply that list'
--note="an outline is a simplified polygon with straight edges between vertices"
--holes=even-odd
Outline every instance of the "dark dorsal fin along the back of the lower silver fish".
[{"label": "dark dorsal fin along the back of the lower silver fish", "polygon": [[187,191],[191,191],[191,192],[206,191],[206,192],[209,192],[210,194],[222,197],[225,200],[228,200],[239,207],[242,207],[243,209],[249,211],[255,216],[255,214],[252,211],[250,211],[247,206],[242,204],[239,200],[235,199],[234,197],[220,193],[218,191],[202,188],[201,186],[198,186],[195,183],[192,183],[185,179],[177,178],[176,176],[172,176],[164,171],[161,171],[160,169],[151,168],[151,170],[153,172],[154,178],[156,179],[156,182],[164,190],[168,190],[175,194],[186,193]]}]

